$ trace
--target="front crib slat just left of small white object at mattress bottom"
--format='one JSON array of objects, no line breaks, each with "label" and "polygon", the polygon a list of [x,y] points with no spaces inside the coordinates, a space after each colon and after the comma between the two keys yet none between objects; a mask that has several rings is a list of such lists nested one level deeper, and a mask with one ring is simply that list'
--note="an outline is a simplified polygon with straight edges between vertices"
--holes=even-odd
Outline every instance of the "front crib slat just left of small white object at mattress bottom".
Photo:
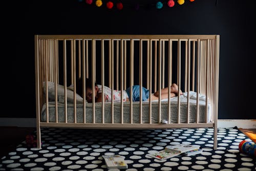
[{"label": "front crib slat just left of small white object at mattress bottom", "polygon": [[158,91],[159,91],[159,95],[158,95],[158,123],[161,123],[161,67],[162,67],[162,40],[159,40],[159,59],[158,59],[159,63],[158,63]]}]

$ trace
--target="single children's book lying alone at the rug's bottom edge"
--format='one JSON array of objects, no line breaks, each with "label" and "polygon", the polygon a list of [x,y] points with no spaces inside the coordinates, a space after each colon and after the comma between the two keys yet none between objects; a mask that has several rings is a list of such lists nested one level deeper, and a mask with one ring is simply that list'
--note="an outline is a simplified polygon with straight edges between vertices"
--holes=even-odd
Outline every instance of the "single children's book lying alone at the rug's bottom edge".
[{"label": "single children's book lying alone at the rug's bottom edge", "polygon": [[108,169],[128,168],[124,158],[120,155],[102,156],[102,158],[105,160]]}]

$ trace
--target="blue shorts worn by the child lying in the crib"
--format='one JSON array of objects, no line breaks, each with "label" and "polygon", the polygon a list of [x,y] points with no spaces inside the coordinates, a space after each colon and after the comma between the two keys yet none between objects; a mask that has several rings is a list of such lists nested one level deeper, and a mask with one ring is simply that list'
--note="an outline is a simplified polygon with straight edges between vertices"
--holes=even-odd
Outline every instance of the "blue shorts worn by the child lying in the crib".
[{"label": "blue shorts worn by the child lying in the crib", "polygon": [[[128,97],[130,98],[130,88],[127,88],[126,93]],[[142,87],[142,101],[147,101],[147,99],[150,97],[150,91],[146,88]],[[135,85],[133,86],[133,101],[140,101],[140,86]]]}]

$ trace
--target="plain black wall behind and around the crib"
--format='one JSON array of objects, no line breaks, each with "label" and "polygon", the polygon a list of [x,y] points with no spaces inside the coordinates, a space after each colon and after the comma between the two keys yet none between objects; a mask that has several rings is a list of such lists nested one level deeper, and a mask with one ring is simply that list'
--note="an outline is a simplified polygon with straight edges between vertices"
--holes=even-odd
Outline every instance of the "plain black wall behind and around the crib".
[{"label": "plain black wall behind and around the crib", "polygon": [[[3,5],[7,12],[1,22],[1,82],[3,107],[8,112],[1,112],[0,117],[36,117],[35,34],[220,34],[219,119],[255,119],[256,14],[252,4],[186,0],[184,5],[175,1],[175,7],[168,8],[166,0],[158,10],[151,5],[157,1],[122,2],[121,11],[75,0],[10,1]],[[127,6],[135,2],[145,6],[138,11]]]}]

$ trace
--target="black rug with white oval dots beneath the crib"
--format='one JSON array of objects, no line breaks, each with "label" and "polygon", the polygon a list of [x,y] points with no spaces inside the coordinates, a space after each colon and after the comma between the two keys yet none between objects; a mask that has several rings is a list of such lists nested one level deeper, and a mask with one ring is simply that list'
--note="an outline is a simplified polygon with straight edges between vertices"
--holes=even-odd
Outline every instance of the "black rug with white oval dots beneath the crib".
[{"label": "black rug with white oval dots beneath the crib", "polygon": [[[108,170],[102,155],[125,157],[132,170],[256,170],[256,158],[239,152],[242,140],[251,141],[237,127],[218,129],[218,149],[213,149],[213,129],[84,130],[41,129],[42,148],[22,142],[0,159],[0,170]],[[147,153],[176,144],[197,144],[195,156],[157,160]],[[118,170],[118,169],[116,169]]]}]

